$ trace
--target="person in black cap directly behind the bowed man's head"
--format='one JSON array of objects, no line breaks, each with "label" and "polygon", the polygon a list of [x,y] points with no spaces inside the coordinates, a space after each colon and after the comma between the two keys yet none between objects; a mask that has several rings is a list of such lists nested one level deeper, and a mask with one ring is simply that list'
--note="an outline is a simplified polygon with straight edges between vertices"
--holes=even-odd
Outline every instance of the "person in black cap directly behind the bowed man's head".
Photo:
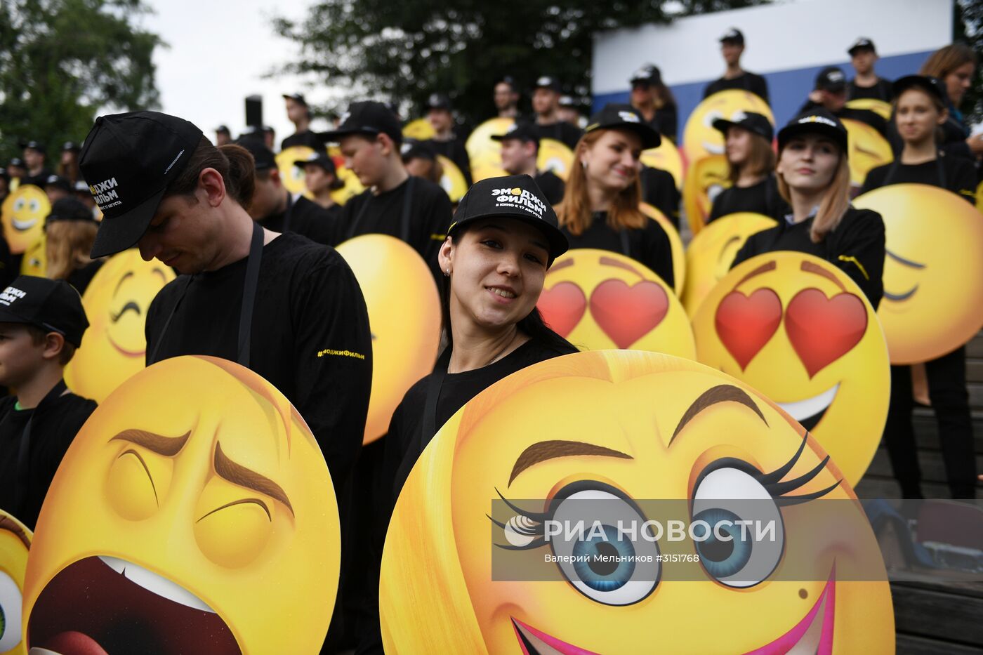
[{"label": "person in black cap directly behind the bowed man's head", "polygon": [[267,230],[297,232],[315,243],[327,244],[337,216],[301,194],[287,191],[276,167],[276,157],[259,141],[241,139],[239,145],[249,150],[256,161],[256,183],[249,214]]}]

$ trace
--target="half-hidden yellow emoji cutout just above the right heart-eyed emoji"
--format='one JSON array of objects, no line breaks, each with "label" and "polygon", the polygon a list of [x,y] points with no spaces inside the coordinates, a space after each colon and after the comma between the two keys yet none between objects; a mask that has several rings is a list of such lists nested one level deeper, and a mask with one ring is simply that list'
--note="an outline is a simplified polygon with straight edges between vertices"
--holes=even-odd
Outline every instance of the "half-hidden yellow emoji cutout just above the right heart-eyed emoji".
[{"label": "half-hidden yellow emoji cutout just above the right heart-eyed emoji", "polygon": [[682,292],[682,306],[690,318],[730,270],[747,238],[776,224],[763,213],[741,211],[721,216],[693,237],[686,250],[686,285]]}]

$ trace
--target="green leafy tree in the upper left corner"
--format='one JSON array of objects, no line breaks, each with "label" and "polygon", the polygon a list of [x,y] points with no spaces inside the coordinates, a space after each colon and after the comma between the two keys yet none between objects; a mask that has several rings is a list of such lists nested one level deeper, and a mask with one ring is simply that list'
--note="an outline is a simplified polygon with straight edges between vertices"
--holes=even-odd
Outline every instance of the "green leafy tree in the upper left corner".
[{"label": "green leafy tree in the upper left corner", "polygon": [[49,164],[82,141],[95,112],[157,104],[153,49],[163,42],[136,20],[142,0],[0,0],[0,156],[36,139]]}]

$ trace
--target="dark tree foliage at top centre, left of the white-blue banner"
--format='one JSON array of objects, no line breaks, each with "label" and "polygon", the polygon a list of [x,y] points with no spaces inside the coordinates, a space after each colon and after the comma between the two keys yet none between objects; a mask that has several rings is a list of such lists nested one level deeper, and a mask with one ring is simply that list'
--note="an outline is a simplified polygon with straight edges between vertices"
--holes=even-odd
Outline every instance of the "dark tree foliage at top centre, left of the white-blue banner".
[{"label": "dark tree foliage at top centre, left of the white-blue banner", "polygon": [[275,29],[301,46],[284,72],[349,89],[331,109],[373,97],[419,111],[439,90],[474,121],[492,112],[492,85],[506,74],[524,89],[553,75],[574,96],[589,97],[596,31],[764,1],[323,0],[302,21],[277,19]]}]

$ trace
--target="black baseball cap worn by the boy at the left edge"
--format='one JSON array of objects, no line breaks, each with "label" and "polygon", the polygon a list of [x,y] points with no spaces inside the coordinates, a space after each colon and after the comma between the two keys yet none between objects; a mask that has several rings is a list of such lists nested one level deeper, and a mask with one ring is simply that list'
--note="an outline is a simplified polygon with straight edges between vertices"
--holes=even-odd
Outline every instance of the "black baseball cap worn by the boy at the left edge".
[{"label": "black baseball cap worn by the boy at the left edge", "polygon": [[21,275],[0,292],[0,323],[21,323],[58,332],[82,345],[88,319],[82,297],[61,279]]}]

